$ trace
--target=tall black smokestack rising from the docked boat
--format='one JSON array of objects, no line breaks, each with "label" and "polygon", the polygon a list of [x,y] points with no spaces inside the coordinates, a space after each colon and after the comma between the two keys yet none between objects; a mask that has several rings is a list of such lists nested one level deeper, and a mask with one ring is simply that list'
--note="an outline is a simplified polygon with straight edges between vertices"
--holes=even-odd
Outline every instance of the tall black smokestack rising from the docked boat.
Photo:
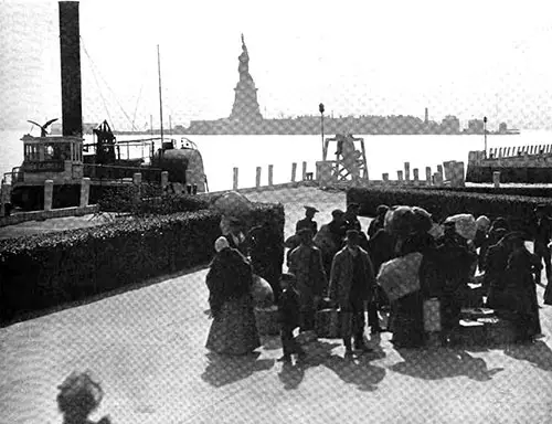
[{"label": "tall black smokestack rising from the docked boat", "polygon": [[83,136],[78,1],[60,1],[63,136]]}]

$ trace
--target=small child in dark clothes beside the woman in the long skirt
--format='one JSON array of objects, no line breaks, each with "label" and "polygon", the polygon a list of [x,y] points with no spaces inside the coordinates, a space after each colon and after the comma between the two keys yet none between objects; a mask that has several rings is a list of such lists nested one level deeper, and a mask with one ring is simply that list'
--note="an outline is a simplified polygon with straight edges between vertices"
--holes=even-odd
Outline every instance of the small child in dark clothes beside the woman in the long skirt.
[{"label": "small child in dark clothes beside the woman in the long skirt", "polygon": [[279,359],[283,362],[291,362],[291,354],[297,353],[299,359],[306,357],[302,348],[297,343],[294,337],[294,330],[299,327],[300,306],[299,306],[299,292],[297,292],[296,278],[294,274],[282,274],[280,287],[282,294],[279,297],[279,322],[282,348],[284,356]]}]

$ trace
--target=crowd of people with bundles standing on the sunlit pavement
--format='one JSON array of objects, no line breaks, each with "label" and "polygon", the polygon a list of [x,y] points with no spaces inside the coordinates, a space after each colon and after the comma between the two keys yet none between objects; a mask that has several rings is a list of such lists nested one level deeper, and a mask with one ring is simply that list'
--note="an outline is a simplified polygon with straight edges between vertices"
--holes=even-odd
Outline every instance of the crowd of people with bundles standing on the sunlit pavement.
[{"label": "crowd of people with bundles standing on the sunlit pavement", "polygon": [[[317,212],[305,206],[296,234],[286,241],[288,272],[283,274],[277,261],[267,266],[269,272],[264,269],[279,308],[283,360],[305,357],[294,330],[315,332],[318,311],[328,308],[340,311],[347,354],[370,351],[364,341],[367,311],[372,333],[391,331],[396,347],[423,346],[428,331],[424,305],[435,299],[442,342],[453,342],[461,309],[471,305],[475,292],[469,283],[475,283],[476,274],[481,284],[479,306],[505,312],[520,342],[540,336],[537,284],[543,267],[549,283],[544,304],[552,305],[552,221],[544,205],[535,208],[530,233],[510,231],[503,218],[491,222],[469,215],[475,229],[470,235],[461,220],[437,223],[421,208],[380,205],[365,232],[355,203],[332,211],[331,222],[321,226],[315,221]],[[270,264],[266,256],[272,255],[266,243],[252,250],[247,240],[262,239],[270,229],[256,227],[245,235],[237,225],[230,227],[215,243],[217,253],[206,278],[213,316],[206,346],[220,353],[244,354],[261,344],[250,289],[256,272],[251,258],[262,255]],[[534,253],[526,241],[533,242]],[[389,266],[394,262],[403,268]],[[395,271],[397,276],[390,274]],[[391,295],[385,283],[390,278],[404,283],[400,295]],[[380,326],[382,310],[390,312],[386,328]]]}]

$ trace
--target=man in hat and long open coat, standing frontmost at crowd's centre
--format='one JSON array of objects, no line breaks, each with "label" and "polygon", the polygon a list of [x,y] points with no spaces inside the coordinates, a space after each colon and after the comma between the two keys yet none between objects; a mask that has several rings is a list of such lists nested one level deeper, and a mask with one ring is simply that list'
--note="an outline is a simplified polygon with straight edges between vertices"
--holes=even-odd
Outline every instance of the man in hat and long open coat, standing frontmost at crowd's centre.
[{"label": "man in hat and long open coat, standing frontmost at crowd's centre", "polygon": [[341,335],[346,354],[354,348],[371,351],[364,343],[364,303],[372,298],[375,277],[368,253],[359,246],[360,233],[347,231],[347,245],[336,254],[331,266],[329,297],[341,309]]}]

